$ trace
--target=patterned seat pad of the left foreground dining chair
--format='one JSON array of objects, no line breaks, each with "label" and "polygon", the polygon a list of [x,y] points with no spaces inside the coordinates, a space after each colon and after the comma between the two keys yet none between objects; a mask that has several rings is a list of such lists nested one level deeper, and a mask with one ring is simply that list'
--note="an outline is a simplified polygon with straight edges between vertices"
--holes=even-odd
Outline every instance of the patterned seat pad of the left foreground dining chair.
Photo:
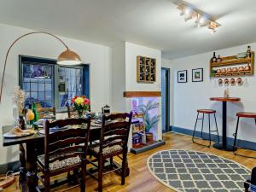
[{"label": "patterned seat pad of the left foreground dining chair", "polygon": [[[44,166],[44,154],[38,156],[38,160]],[[54,170],[57,170],[57,169],[61,169],[63,167],[73,166],[75,164],[79,164],[80,162],[81,162],[81,159],[79,158],[79,155],[76,156],[76,157],[67,158],[65,160],[56,160],[55,162],[52,162],[52,163],[49,164],[49,170],[54,171]]]}]

